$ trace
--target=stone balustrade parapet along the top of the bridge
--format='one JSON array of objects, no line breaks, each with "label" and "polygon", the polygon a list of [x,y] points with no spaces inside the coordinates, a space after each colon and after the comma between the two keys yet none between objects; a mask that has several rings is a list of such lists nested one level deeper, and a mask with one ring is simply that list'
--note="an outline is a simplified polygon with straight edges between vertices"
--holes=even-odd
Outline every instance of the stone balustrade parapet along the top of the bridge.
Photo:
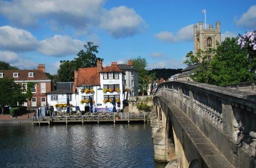
[{"label": "stone balustrade parapet along the top of the bridge", "polygon": [[189,81],[161,83],[155,95],[182,101],[251,156],[255,156],[256,95]]}]

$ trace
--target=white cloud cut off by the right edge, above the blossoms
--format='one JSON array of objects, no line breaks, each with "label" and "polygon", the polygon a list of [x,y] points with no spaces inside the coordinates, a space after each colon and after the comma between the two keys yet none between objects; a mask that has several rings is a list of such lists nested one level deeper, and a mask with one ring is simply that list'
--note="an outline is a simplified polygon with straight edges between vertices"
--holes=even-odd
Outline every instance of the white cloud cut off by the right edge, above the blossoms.
[{"label": "white cloud cut off by the right edge, above the blossoms", "polygon": [[240,19],[234,18],[234,23],[237,26],[244,28],[255,29],[256,28],[256,5],[251,6],[247,12],[245,12]]}]

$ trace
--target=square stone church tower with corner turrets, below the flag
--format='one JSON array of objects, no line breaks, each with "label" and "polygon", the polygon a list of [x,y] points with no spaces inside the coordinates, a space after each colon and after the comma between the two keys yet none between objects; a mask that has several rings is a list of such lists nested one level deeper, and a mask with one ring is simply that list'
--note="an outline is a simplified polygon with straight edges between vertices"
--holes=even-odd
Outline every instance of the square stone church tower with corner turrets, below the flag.
[{"label": "square stone church tower with corner turrets, below the flag", "polygon": [[194,51],[198,50],[206,51],[209,48],[216,49],[217,42],[221,43],[221,23],[216,22],[216,29],[212,25],[209,25],[209,29],[203,28],[203,22],[199,22],[199,30],[197,25],[194,25]]}]

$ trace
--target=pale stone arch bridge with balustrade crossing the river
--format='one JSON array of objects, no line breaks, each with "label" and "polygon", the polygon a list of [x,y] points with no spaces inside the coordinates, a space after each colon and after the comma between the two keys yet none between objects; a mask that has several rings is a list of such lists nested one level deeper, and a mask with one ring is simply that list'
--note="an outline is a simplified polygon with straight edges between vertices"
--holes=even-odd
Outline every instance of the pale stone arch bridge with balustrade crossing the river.
[{"label": "pale stone arch bridge with balustrade crossing the river", "polygon": [[157,88],[155,160],[166,167],[256,167],[256,95],[189,81]]}]

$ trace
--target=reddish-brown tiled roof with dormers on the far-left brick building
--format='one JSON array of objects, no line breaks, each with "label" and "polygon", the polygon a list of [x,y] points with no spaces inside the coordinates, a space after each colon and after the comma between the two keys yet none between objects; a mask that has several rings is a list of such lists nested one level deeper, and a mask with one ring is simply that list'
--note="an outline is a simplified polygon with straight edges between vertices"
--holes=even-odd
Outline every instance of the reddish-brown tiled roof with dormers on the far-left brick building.
[{"label": "reddish-brown tiled roof with dormers on the far-left brick building", "polygon": [[[13,73],[19,73],[18,78],[13,78],[15,81],[23,80],[50,80],[47,75],[40,69],[25,69],[25,70],[0,70],[4,73],[4,77],[13,78]],[[29,73],[34,73],[33,77],[29,77]]]}]

